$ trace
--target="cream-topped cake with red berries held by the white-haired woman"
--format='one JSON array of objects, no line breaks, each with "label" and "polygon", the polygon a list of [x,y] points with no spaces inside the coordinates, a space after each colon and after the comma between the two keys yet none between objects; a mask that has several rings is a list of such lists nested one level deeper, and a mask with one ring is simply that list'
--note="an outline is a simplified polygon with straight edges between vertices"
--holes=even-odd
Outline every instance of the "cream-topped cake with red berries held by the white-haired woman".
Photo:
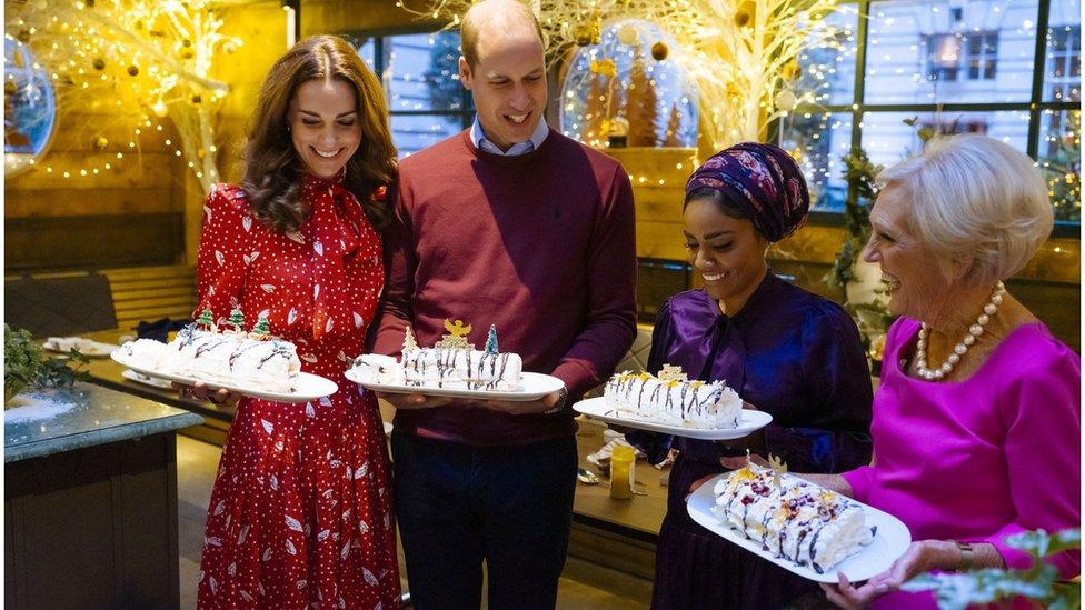
[{"label": "cream-topped cake with red berries held by the white-haired woman", "polygon": [[819,574],[874,540],[859,503],[786,469],[747,463],[716,483],[711,512],[763,550]]}]

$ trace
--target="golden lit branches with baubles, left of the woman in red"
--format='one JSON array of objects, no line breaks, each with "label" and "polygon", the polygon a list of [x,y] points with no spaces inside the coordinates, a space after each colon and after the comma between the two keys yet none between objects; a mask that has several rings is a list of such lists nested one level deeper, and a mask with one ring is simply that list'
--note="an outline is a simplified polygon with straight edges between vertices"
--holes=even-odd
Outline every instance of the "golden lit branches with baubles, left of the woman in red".
[{"label": "golden lit branches with baubles, left of the woman in red", "polygon": [[[66,130],[101,152],[80,176],[138,162],[145,131],[162,132],[172,119],[180,142],[166,140],[183,157],[205,190],[219,179],[213,117],[229,86],[209,77],[216,52],[241,41],[220,32],[205,0],[31,0],[6,6],[6,37],[30,48],[36,68],[50,74],[58,114],[78,113]],[[113,151],[107,132],[127,133]],[[165,138],[165,136],[162,136]],[[46,171],[52,173],[52,167]],[[63,171],[68,178],[72,172]]]}]

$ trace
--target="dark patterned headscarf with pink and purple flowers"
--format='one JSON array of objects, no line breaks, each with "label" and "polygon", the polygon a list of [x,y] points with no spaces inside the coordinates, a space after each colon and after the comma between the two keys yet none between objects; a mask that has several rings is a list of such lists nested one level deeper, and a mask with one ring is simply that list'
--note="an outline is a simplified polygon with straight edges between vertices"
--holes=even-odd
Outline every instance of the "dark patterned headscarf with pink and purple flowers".
[{"label": "dark patterned headscarf with pink and purple flowers", "polygon": [[719,191],[772,242],[794,233],[810,210],[798,164],[773,144],[743,142],[711,156],[689,177],[686,194],[704,187]]}]

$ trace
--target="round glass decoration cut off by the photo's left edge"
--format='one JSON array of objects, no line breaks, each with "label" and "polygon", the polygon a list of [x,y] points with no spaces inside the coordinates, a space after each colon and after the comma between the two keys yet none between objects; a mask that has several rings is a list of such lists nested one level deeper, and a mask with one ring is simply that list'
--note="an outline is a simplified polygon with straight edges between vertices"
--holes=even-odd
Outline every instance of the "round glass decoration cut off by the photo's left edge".
[{"label": "round glass decoration cut off by the photo's left edge", "polygon": [[10,36],[3,40],[3,173],[13,176],[49,148],[57,97],[30,49]]}]

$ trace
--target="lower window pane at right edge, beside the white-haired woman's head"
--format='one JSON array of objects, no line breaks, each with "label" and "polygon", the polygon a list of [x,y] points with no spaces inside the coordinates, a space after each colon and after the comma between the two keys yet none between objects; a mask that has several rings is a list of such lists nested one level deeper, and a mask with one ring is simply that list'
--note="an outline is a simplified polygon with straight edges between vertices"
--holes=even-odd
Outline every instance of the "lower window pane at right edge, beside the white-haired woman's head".
[{"label": "lower window pane at right edge, beside the white-haired woman's head", "polygon": [[1047,178],[1055,220],[1082,221],[1082,111],[1041,116],[1038,163]]}]

